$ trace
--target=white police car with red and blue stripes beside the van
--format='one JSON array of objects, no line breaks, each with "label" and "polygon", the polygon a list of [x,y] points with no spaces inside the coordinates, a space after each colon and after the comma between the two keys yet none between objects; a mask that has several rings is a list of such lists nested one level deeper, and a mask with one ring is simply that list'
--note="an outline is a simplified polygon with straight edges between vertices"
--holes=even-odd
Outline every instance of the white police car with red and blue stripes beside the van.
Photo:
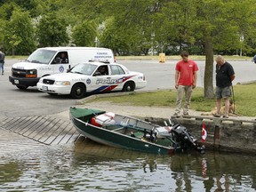
[{"label": "white police car with red and blue stripes beside the van", "polygon": [[80,99],[85,93],[133,92],[147,85],[145,76],[129,71],[121,64],[89,61],[77,64],[67,73],[44,76],[37,89],[49,94],[70,94]]}]

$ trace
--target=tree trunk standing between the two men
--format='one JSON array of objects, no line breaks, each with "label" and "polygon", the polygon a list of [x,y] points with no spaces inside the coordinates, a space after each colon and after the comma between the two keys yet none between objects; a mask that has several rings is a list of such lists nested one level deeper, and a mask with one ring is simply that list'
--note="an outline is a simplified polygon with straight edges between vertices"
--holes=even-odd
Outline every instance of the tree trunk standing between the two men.
[{"label": "tree trunk standing between the two men", "polygon": [[204,44],[204,51],[206,54],[205,68],[204,68],[204,98],[213,99],[213,47],[211,37],[206,38]]}]

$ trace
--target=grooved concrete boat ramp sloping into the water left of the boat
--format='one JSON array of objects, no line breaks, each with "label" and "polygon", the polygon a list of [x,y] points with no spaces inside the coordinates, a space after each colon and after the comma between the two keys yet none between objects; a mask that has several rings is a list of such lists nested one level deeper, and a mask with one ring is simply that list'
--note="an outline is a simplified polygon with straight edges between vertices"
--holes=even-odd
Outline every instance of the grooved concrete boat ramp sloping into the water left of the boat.
[{"label": "grooved concrete boat ramp sloping into the water left of the boat", "polygon": [[74,143],[79,137],[68,118],[58,116],[0,117],[0,156],[44,145]]}]

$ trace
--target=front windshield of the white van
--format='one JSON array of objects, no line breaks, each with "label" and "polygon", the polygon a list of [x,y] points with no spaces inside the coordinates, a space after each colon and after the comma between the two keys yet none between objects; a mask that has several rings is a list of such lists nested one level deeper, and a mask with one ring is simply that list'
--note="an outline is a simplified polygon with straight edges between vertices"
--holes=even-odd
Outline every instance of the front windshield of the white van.
[{"label": "front windshield of the white van", "polygon": [[33,62],[38,64],[49,64],[56,51],[38,49],[29,55],[27,62]]}]

